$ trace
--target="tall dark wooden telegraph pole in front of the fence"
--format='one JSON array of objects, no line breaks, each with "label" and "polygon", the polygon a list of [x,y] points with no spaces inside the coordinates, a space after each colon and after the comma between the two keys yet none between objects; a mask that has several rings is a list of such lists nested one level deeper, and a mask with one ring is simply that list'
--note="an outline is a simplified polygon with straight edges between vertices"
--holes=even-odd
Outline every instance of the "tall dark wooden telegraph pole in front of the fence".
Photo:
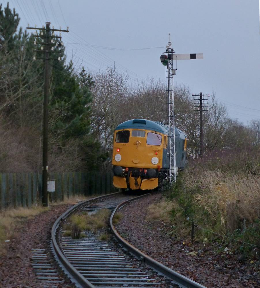
[{"label": "tall dark wooden telegraph pole in front of the fence", "polygon": [[[69,27],[67,30],[60,29],[50,29],[50,22],[46,22],[46,27],[35,28],[28,27],[27,29],[35,29],[40,31],[40,35],[35,34],[36,39],[42,39],[42,42],[34,41],[34,44],[43,44],[40,50],[33,50],[34,52],[42,52],[44,53],[44,101],[43,101],[43,147],[42,147],[42,205],[49,205],[49,194],[48,194],[48,105],[49,105],[49,89],[50,89],[50,69],[49,69],[49,60],[61,60],[60,57],[50,58],[50,52],[54,52],[54,47],[63,46],[63,42],[61,42],[61,32],[69,32]],[[55,36],[54,31],[59,31],[60,36]],[[39,38],[37,38],[39,37]],[[60,39],[58,43],[55,43],[56,38]],[[33,57],[36,60],[36,57]]]}]

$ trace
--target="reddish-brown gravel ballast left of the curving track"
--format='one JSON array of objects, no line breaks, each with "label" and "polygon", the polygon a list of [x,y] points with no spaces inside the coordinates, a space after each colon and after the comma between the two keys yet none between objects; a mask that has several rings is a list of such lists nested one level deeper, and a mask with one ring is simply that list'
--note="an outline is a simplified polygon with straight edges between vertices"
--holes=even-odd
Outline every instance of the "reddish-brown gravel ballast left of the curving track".
[{"label": "reddish-brown gravel ballast left of the curving track", "polygon": [[[6,255],[0,257],[0,287],[48,287],[36,278],[31,249],[50,250],[52,225],[68,208],[67,204],[52,206],[49,211],[26,220],[16,237],[6,243]],[[59,287],[69,285],[62,283]]]}]

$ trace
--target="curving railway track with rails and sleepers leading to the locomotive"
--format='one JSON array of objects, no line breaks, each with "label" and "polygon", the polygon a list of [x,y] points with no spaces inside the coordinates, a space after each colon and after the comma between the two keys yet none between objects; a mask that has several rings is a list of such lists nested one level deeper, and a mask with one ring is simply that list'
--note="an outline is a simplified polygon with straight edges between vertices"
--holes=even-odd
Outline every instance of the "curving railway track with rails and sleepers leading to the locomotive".
[{"label": "curving railway track with rails and sleepers leading to the locomotive", "polygon": [[[128,201],[135,201],[143,196],[133,197],[114,193],[93,198],[71,207],[56,220],[52,227],[52,250],[59,266],[76,287],[205,288],[143,254],[116,232],[113,226],[116,211]],[[117,244],[111,240],[99,240],[98,235],[90,231],[86,231],[86,237],[80,239],[64,236],[62,223],[66,221],[66,217],[72,213],[94,215],[104,208],[112,212],[110,226],[118,241]],[[43,251],[40,252],[43,253]],[[130,256],[129,252],[135,258]],[[37,254],[39,257],[38,252]],[[45,255],[42,256],[45,259]],[[151,272],[146,265],[153,271]],[[51,270],[48,265],[46,269]],[[54,271],[52,273],[54,287],[55,281],[58,282],[59,279]],[[165,282],[163,276],[169,280]],[[46,277],[44,281],[48,278],[48,276],[42,277]]]}]

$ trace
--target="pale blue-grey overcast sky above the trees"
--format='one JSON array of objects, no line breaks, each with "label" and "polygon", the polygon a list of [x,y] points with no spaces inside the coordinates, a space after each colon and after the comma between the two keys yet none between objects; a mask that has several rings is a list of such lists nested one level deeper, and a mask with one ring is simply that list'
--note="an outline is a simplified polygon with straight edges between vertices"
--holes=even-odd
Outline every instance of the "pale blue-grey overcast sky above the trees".
[{"label": "pale blue-grey overcast sky above the trees", "polygon": [[229,116],[245,124],[260,119],[259,0],[172,0],[171,5],[155,0],[9,2],[23,28],[46,21],[55,28],[69,26],[70,32],[62,37],[68,43],[68,58],[73,51],[77,65],[105,70],[115,61],[120,71],[128,70],[133,83],[148,76],[165,81],[159,59],[164,48],[121,51],[88,44],[120,49],[162,47],[171,33],[176,53],[204,53],[204,60],[178,61],[175,84],[188,85],[192,93],[212,94],[214,90],[227,105]]}]

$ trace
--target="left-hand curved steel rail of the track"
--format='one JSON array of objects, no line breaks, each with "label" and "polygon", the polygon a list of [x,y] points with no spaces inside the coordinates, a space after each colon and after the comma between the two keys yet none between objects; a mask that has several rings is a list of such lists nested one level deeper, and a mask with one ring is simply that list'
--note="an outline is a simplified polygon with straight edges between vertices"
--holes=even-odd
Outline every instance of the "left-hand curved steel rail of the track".
[{"label": "left-hand curved steel rail of the track", "polygon": [[93,202],[98,199],[106,198],[108,196],[113,196],[116,194],[121,194],[121,192],[116,192],[116,193],[111,193],[111,194],[106,194],[102,196],[98,196],[95,198],[91,198],[82,202],[79,202],[78,204],[74,205],[71,207],[69,210],[67,210],[65,213],[63,213],[53,224],[52,226],[52,232],[51,232],[51,239],[52,239],[52,247],[53,247],[53,252],[56,256],[56,258],[61,262],[63,265],[63,268],[65,268],[65,272],[69,273],[69,278],[71,278],[72,282],[75,282],[78,284],[78,287],[87,287],[87,288],[95,288],[94,285],[92,285],[80,272],[78,272],[73,265],[71,265],[68,261],[68,259],[64,256],[63,252],[59,248],[59,245],[56,240],[56,232],[57,229],[60,226],[60,223],[62,219],[66,218],[68,215],[73,213],[75,210],[79,209],[80,207],[86,205],[88,202]]}]

